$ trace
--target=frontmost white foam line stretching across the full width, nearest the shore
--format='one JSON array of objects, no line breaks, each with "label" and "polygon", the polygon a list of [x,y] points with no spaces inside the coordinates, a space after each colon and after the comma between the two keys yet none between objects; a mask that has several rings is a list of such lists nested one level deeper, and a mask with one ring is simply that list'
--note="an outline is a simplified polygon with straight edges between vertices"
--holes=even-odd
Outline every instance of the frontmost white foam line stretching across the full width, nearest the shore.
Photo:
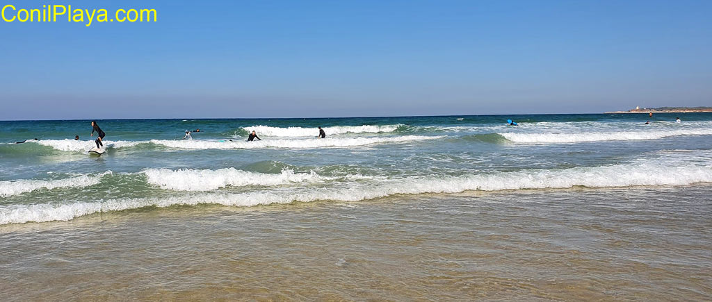
[{"label": "frontmost white foam line stretching across the full width, nearest the shore", "polygon": [[[676,163],[676,164],[674,164]],[[461,193],[466,190],[520,190],[541,188],[628,187],[639,185],[689,185],[712,183],[712,168],[679,161],[651,161],[602,167],[563,170],[529,170],[467,176],[414,176],[379,178],[367,183],[342,183],[333,187],[298,186],[284,190],[247,193],[186,193],[168,198],[128,198],[64,205],[0,206],[0,225],[23,222],[71,220],[95,212],[127,210],[147,206],[197,205],[211,203],[231,206],[336,200],[355,202],[397,194]]]}]

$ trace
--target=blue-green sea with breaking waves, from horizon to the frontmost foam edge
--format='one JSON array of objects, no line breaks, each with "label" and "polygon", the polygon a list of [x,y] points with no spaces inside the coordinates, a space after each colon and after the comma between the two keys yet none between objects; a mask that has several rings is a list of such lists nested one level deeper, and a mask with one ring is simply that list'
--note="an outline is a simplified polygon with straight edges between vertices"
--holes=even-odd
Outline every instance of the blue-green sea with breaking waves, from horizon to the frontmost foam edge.
[{"label": "blue-green sea with breaking waves, from horizon to the frontmost foam edge", "polygon": [[[98,124],[107,134],[107,151],[96,157],[86,152],[94,145],[90,121],[0,122],[0,224],[147,206],[712,181],[712,114]],[[316,126],[323,126],[326,139],[315,138]],[[200,131],[183,139],[188,129]],[[245,141],[253,129],[262,141]]]}]

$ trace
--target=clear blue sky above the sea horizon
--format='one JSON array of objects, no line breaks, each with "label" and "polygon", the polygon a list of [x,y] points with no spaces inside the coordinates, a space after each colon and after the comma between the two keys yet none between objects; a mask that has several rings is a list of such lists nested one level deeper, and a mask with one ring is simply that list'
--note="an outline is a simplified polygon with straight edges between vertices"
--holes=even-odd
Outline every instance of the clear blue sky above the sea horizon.
[{"label": "clear blue sky above the sea horizon", "polygon": [[0,21],[0,119],[712,106],[707,0],[48,3],[158,22]]}]

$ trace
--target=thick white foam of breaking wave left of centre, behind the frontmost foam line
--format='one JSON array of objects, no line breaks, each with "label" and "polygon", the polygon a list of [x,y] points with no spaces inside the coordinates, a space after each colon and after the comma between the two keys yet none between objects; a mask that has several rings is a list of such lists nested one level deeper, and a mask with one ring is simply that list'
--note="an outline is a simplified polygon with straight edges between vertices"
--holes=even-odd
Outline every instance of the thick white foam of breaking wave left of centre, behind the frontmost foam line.
[{"label": "thick white foam of breaking wave left of centre, behind the frontmost foam line", "polygon": [[310,173],[294,173],[289,169],[284,169],[279,174],[241,171],[236,168],[218,170],[181,169],[177,171],[150,169],[143,171],[143,173],[147,176],[148,183],[152,185],[158,185],[160,188],[167,190],[182,191],[207,191],[227,186],[243,185],[285,185],[330,179],[319,176],[314,171]]}]

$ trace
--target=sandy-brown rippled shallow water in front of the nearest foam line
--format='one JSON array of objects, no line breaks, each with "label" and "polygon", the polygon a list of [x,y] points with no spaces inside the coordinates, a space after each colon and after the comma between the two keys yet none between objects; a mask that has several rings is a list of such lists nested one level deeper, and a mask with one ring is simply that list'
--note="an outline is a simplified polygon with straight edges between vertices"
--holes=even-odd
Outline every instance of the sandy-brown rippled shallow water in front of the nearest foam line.
[{"label": "sandy-brown rippled shallow water in front of the nearest foam line", "polygon": [[10,300],[712,297],[712,187],[168,207],[0,229]]}]

